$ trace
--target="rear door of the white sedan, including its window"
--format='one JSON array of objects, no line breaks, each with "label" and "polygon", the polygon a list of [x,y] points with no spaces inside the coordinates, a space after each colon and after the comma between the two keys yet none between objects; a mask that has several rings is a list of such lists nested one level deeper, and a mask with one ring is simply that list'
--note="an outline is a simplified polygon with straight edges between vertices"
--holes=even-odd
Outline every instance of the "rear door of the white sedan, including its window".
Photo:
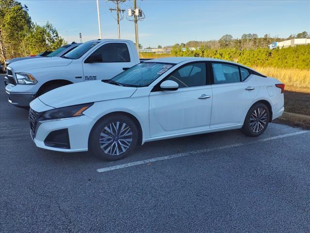
[{"label": "rear door of the white sedan, including its window", "polygon": [[231,63],[211,62],[213,78],[210,128],[243,124],[259,87],[246,68]]}]

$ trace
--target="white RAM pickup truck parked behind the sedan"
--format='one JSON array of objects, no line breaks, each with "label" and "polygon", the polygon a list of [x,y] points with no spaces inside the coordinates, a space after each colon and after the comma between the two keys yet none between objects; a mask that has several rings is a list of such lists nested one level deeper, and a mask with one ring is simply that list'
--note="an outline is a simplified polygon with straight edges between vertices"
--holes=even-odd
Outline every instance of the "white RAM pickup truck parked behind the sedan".
[{"label": "white RAM pickup truck parked behind the sedan", "polygon": [[138,52],[130,40],[88,41],[62,57],[10,64],[5,91],[11,104],[28,108],[32,100],[52,89],[71,83],[111,79],[138,63]]}]

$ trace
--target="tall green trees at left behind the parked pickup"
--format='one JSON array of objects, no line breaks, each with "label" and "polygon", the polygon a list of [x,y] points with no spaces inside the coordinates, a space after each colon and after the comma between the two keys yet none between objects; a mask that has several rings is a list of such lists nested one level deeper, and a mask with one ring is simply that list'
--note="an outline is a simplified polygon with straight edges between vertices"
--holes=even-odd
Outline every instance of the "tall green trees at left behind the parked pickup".
[{"label": "tall green trees at left behind the parked pickup", "polygon": [[31,21],[26,5],[16,0],[0,0],[0,63],[56,50],[64,44],[52,24],[40,26]]}]

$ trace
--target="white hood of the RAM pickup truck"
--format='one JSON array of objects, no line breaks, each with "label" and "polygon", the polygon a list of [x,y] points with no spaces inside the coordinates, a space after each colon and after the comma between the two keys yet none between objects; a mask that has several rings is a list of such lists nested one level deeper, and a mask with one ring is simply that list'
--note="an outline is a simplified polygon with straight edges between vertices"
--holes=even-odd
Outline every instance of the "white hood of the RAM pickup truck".
[{"label": "white hood of the RAM pickup truck", "polygon": [[26,70],[45,68],[45,67],[62,67],[68,66],[72,62],[71,59],[62,57],[43,57],[40,59],[27,59],[14,62],[9,65],[14,72],[25,72]]}]

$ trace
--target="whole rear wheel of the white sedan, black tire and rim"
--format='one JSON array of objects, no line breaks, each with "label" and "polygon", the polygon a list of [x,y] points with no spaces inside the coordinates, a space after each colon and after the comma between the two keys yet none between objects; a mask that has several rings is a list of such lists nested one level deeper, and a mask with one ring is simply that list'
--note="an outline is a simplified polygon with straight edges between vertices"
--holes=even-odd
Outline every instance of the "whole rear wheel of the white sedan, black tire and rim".
[{"label": "whole rear wheel of the white sedan, black tire and rim", "polygon": [[[256,116],[258,116],[257,119],[255,118]],[[265,104],[254,104],[248,110],[248,114],[243,123],[242,132],[250,137],[257,137],[261,135],[268,126],[269,117],[269,109]]]}]

